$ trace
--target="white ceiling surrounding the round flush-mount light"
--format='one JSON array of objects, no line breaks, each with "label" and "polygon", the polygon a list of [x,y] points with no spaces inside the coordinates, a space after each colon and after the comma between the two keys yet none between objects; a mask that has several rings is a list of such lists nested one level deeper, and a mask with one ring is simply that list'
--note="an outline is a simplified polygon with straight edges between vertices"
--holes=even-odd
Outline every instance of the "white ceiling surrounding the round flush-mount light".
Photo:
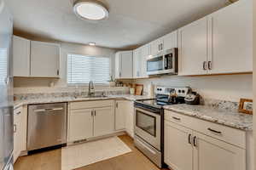
[{"label": "white ceiling surrounding the round flush-mount light", "polygon": [[62,42],[133,48],[223,7],[227,0],[102,0],[103,21],[80,20],[73,0],[6,0],[16,32]]}]

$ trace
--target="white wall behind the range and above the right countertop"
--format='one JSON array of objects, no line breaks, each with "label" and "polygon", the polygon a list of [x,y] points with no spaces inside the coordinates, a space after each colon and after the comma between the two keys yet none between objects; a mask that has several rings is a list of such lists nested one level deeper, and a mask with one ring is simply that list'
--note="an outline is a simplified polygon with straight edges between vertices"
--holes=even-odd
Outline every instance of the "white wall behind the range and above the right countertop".
[{"label": "white wall behind the range and above the right countertop", "polygon": [[253,75],[225,75],[205,77],[163,76],[151,79],[137,80],[144,85],[147,92],[148,84],[168,87],[189,86],[203,98],[223,99],[238,102],[241,98],[253,99]]}]

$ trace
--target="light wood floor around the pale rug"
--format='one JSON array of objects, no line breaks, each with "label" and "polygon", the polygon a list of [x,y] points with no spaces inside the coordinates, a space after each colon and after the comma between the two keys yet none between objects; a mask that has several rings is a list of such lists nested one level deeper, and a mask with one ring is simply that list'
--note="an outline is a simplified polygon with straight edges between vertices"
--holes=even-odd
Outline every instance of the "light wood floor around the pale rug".
[{"label": "light wood floor around the pale rug", "polygon": [[[119,139],[131,148],[130,153],[81,167],[77,170],[160,170],[134,147],[129,136],[119,136]],[[61,150],[51,150],[32,156],[21,156],[15,162],[15,170],[61,170]]]}]

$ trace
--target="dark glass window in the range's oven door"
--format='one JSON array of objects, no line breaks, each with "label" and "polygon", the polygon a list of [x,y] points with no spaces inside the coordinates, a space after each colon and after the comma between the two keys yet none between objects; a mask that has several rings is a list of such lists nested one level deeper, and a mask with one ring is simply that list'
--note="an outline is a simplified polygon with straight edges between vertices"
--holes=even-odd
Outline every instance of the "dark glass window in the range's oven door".
[{"label": "dark glass window in the range's oven door", "polygon": [[156,137],[156,117],[150,116],[142,111],[137,111],[136,126]]}]

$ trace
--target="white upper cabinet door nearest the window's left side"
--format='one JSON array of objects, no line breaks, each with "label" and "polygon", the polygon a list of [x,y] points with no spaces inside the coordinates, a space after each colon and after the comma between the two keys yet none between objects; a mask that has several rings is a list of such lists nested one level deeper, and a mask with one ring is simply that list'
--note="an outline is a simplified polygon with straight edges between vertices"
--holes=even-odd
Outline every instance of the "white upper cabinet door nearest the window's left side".
[{"label": "white upper cabinet door nearest the window's left side", "polygon": [[46,42],[31,42],[32,77],[59,77],[59,62],[59,45]]}]

